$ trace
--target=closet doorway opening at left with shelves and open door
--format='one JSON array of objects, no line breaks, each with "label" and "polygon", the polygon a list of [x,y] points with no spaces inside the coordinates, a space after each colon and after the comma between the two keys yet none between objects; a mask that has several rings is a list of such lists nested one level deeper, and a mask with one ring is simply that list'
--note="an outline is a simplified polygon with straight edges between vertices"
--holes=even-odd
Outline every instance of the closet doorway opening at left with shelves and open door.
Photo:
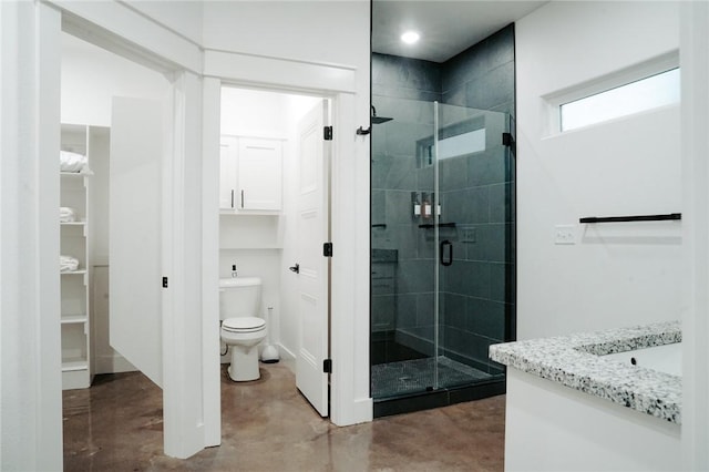
[{"label": "closet doorway opening at left with shelves and open door", "polygon": [[[154,367],[148,377],[161,384],[160,288],[143,284],[144,291],[152,287],[153,302],[146,309],[145,298],[125,284],[116,291],[115,283],[136,280],[136,274],[157,279],[155,274],[161,270],[161,106],[172,85],[154,70],[66,32],[61,37],[61,150],[69,153],[70,162],[82,158],[80,167],[64,166],[62,158],[60,177],[60,250],[62,260],[76,260],[76,267],[62,271],[60,284],[62,384],[69,390],[64,399],[73,407],[71,414],[78,402],[90,401],[83,389],[91,388],[96,374],[137,370],[131,361],[140,370],[151,370],[130,356],[125,342],[121,347],[116,334],[110,332],[115,325],[123,328],[121,334],[130,346],[147,347],[145,358]],[[152,127],[143,122],[140,130],[152,131],[145,140],[134,140],[130,127],[147,117],[141,109],[150,110]],[[126,143],[140,153],[126,148]],[[121,247],[123,254],[117,252]],[[135,300],[141,300],[142,310],[121,309]],[[116,315],[125,314],[140,319],[123,318],[116,324]],[[145,329],[148,319],[153,329]],[[160,413],[162,424],[162,410]],[[91,425],[70,428],[64,440],[75,443],[75,435],[85,433],[81,440],[90,443],[92,431]]]}]

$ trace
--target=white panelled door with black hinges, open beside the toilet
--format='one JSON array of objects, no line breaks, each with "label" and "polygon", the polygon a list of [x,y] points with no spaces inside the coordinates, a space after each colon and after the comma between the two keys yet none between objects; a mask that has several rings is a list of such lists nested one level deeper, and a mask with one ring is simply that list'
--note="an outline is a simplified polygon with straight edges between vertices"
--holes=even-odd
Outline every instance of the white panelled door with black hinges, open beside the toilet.
[{"label": "white panelled door with black hinges, open beside the toilet", "polygon": [[[323,140],[328,102],[314,107],[298,125],[297,205],[298,353],[296,384],[322,417],[329,414],[329,143]],[[295,267],[295,266],[294,266]]]}]

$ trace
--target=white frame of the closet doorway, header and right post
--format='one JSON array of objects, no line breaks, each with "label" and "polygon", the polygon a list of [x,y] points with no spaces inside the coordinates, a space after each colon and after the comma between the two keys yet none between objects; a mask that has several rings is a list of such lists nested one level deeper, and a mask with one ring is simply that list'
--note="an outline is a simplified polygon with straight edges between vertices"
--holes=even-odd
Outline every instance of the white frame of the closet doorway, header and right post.
[{"label": "white frame of the closet doorway, header and right post", "polygon": [[[203,370],[208,363],[203,346],[208,339],[208,330],[194,312],[201,311],[201,267],[198,237],[191,232],[189,222],[198,215],[201,207],[195,202],[202,199],[202,181],[191,172],[201,165],[201,121],[202,85],[196,64],[188,60],[194,44],[186,44],[183,60],[167,58],[157,52],[158,48],[138,49],[132,42],[130,32],[111,31],[92,20],[105,17],[105,11],[96,4],[60,3],[60,25],[49,39],[61,43],[61,34],[69,33],[94,45],[116,53],[127,60],[165,74],[171,85],[167,91],[167,110],[164,113],[165,135],[162,170],[162,261],[163,276],[168,277],[167,289],[162,289],[162,362],[163,362],[163,437],[166,455],[186,459],[202,449],[217,445],[220,440],[220,422],[213,413],[214,404],[219,404],[218,392],[207,386],[215,383],[214,372]],[[105,4],[102,4],[105,8]],[[116,10],[127,23],[145,21],[137,13]],[[116,21],[116,23],[119,23]],[[154,25],[156,42],[164,40],[165,32]],[[141,41],[136,41],[141,43]],[[193,48],[194,47],[194,48]],[[174,50],[173,50],[174,51]],[[197,71],[197,72],[195,72]],[[59,71],[58,71],[59,72]],[[50,86],[59,88],[59,74],[48,76]],[[50,106],[50,105],[45,105]],[[56,115],[60,103],[55,103]],[[56,144],[59,147],[59,144]],[[59,205],[55,202],[54,207]],[[160,280],[156,280],[156,285]],[[194,287],[189,289],[191,287]],[[216,331],[216,328],[215,328]],[[217,331],[218,332],[218,331]],[[217,335],[218,336],[218,335]],[[218,346],[218,342],[217,342]],[[218,348],[216,348],[218,351]],[[208,380],[212,380],[210,382]],[[218,372],[216,372],[218,384]],[[217,407],[218,410],[218,407]]]}]

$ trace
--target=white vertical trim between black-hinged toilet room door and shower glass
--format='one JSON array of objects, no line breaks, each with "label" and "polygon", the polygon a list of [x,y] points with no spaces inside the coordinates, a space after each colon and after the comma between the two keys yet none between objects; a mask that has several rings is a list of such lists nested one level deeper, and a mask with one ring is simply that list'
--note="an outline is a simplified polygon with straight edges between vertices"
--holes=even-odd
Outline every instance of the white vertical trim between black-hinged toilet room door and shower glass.
[{"label": "white vertical trim between black-hinged toilet room door and shower glass", "polygon": [[[330,220],[332,232],[330,419],[337,425],[372,420],[369,396],[369,198],[358,198],[358,188],[369,188],[369,160],[356,158],[357,145],[366,138],[348,138],[356,130],[356,98],[341,93],[332,103],[336,133],[332,156]],[[354,133],[352,132],[352,135]],[[364,182],[366,181],[366,182]]]}]

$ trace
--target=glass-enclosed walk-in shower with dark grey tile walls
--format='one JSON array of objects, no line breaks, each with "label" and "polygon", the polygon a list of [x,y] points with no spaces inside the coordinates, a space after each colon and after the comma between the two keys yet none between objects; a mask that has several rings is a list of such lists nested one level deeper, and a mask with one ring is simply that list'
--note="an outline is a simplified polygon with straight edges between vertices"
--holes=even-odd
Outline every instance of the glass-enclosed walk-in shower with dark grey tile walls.
[{"label": "glass-enclosed walk-in shower with dark grey tile walls", "polygon": [[377,98],[371,396],[381,417],[504,392],[514,337],[514,130],[506,113]]}]

